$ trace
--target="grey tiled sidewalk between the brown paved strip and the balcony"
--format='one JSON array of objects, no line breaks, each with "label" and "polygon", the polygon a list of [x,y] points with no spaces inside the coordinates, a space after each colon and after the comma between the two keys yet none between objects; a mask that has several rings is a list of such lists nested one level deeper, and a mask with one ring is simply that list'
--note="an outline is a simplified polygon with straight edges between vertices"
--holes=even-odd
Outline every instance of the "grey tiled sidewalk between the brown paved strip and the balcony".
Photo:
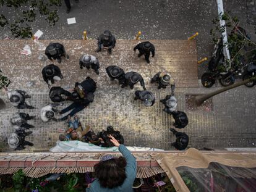
[{"label": "grey tiled sidewalk between the brown paved strip and the balcony", "polygon": [[[211,91],[216,88],[211,89]],[[28,150],[48,150],[58,140],[59,128],[67,127],[65,122],[43,123],[39,117],[40,108],[48,104],[48,90],[28,90],[32,99],[30,104],[38,109],[20,110],[36,115],[31,124],[35,125],[33,134],[28,140],[35,144]],[[79,113],[83,125],[90,125],[93,130],[100,131],[113,125],[124,135],[125,144],[129,146],[148,146],[172,150],[170,143],[175,138],[169,131],[173,119],[163,112],[159,99],[164,98],[166,90],[161,93],[153,89],[156,103],[153,107],[144,107],[140,101],[133,101],[134,93],[119,88],[98,89],[95,101]],[[185,104],[186,94],[207,93],[205,88],[177,88],[178,109],[185,111],[189,117],[189,125],[181,131],[190,136],[189,147],[198,149],[245,148],[256,144],[256,110],[255,88],[241,86],[213,98],[213,111],[188,111]],[[124,97],[125,96],[125,97]],[[1,97],[2,98],[2,97]],[[58,107],[61,109],[64,106]],[[17,112],[9,106],[0,111],[1,148],[6,148],[6,140],[13,131],[9,123],[11,115]]]}]

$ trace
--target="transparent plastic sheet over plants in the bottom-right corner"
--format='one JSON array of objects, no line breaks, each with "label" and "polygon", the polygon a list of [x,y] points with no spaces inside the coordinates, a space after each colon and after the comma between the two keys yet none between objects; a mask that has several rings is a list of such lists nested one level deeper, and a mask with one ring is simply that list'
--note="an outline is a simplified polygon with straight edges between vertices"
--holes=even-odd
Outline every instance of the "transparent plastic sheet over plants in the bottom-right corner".
[{"label": "transparent plastic sheet over plants in the bottom-right corner", "polygon": [[177,171],[190,191],[256,191],[256,168],[230,167],[211,162],[208,168],[178,167]]}]

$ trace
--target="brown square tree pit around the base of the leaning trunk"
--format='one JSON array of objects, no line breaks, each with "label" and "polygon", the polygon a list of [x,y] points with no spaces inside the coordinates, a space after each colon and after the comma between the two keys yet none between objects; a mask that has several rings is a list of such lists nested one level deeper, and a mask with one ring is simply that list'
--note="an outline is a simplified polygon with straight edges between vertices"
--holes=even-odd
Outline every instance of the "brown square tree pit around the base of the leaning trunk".
[{"label": "brown square tree pit around the base of the leaning trunk", "polygon": [[203,102],[202,105],[197,106],[195,104],[195,97],[199,96],[201,94],[186,94],[185,99],[186,99],[186,109],[189,111],[213,111],[213,100],[212,99],[207,99],[205,102]]}]

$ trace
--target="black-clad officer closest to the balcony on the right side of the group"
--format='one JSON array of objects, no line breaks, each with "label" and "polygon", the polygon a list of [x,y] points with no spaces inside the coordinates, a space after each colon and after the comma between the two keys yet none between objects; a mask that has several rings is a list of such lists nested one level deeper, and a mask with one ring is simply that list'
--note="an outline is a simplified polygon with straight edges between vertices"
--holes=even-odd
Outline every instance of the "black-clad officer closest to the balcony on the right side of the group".
[{"label": "black-clad officer closest to the balcony on the right side of the group", "polygon": [[189,136],[187,136],[186,133],[178,132],[174,130],[174,128],[170,128],[170,131],[173,132],[173,134],[176,136],[176,141],[174,143],[171,143],[174,148],[177,150],[184,150],[187,148],[187,145],[189,144]]}]

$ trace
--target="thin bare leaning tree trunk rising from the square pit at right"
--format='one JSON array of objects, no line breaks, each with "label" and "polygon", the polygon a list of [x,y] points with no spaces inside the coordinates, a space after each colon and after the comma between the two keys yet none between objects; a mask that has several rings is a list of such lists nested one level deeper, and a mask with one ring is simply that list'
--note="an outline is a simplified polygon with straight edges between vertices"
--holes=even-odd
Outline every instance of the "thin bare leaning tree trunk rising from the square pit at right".
[{"label": "thin bare leaning tree trunk rising from the square pit at right", "polygon": [[197,104],[197,106],[200,106],[205,100],[211,98],[212,96],[215,96],[216,94],[223,93],[224,91],[231,90],[233,88],[236,88],[237,86],[245,85],[246,83],[249,83],[250,81],[253,81],[253,80],[254,80],[254,78],[249,78],[249,79],[241,81],[239,83],[234,83],[233,85],[226,86],[226,87],[224,87],[220,90],[213,91],[213,92],[208,93],[208,94],[195,96],[195,103]]}]

